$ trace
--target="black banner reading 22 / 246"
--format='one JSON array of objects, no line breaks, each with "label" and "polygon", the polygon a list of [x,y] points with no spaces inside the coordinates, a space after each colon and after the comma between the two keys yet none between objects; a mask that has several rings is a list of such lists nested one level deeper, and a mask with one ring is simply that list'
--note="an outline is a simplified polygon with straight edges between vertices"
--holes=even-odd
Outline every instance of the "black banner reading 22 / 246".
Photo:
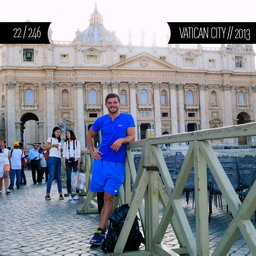
[{"label": "black banner reading 22 / 246", "polygon": [[0,22],[0,44],[50,44],[51,22]]}]

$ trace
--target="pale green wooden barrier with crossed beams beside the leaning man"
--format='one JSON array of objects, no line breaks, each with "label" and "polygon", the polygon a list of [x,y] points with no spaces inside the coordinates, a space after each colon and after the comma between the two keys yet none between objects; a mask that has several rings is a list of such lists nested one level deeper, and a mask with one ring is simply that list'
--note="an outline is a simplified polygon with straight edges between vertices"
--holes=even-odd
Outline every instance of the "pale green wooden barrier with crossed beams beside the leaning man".
[{"label": "pale green wooden barrier with crossed beams beside the leaning man", "polygon": [[[126,181],[119,193],[120,203],[129,203],[130,210],[111,255],[209,255],[206,165],[233,216],[212,255],[226,255],[240,234],[244,237],[251,254],[256,255],[256,230],[251,222],[251,216],[256,210],[256,182],[241,202],[209,143],[210,140],[255,135],[256,123],[250,123],[155,138],[153,131],[148,130],[145,140],[130,143],[127,149]],[[174,185],[159,145],[184,142],[190,142],[190,146]],[[138,173],[131,152],[134,148],[142,148]],[[195,173],[196,236],[192,233],[180,201],[192,167]],[[90,194],[92,193],[88,194],[88,200],[85,202],[87,206],[83,207],[84,213],[89,212],[88,201],[93,197]],[[159,200],[164,206],[160,222]],[[145,250],[123,252],[137,212],[140,213],[145,235]],[[172,225],[180,248],[166,248],[161,244],[169,224]]]}]

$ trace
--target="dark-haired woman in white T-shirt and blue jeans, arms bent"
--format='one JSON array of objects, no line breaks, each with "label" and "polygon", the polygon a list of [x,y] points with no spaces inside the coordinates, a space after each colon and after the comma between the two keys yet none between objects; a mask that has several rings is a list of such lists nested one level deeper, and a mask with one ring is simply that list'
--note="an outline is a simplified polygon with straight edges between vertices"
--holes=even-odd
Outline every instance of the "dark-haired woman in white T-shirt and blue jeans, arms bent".
[{"label": "dark-haired woman in white T-shirt and blue jeans, arms bent", "polygon": [[49,178],[46,185],[46,200],[51,200],[50,192],[54,177],[57,180],[59,199],[63,200],[64,196],[62,194],[62,184],[61,184],[61,129],[60,127],[54,127],[52,131],[52,136],[48,138],[44,150],[49,150],[48,159],[48,173]]}]

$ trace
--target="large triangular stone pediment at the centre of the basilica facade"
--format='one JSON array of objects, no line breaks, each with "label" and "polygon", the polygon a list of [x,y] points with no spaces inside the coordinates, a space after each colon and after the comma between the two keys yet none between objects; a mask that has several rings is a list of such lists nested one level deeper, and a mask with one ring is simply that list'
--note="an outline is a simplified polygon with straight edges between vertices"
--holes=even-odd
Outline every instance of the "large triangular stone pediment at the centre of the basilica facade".
[{"label": "large triangular stone pediment at the centre of the basilica facade", "polygon": [[136,69],[136,70],[174,70],[177,69],[165,61],[156,58],[148,53],[141,53],[129,59],[118,62],[110,67],[111,69]]}]

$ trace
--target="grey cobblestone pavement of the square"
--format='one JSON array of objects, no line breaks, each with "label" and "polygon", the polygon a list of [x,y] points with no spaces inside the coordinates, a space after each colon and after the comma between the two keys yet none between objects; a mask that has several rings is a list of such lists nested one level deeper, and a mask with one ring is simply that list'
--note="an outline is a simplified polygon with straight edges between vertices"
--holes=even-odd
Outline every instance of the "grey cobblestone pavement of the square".
[{"label": "grey cobblestone pavement of the square", "polygon": [[[30,171],[26,171],[31,180]],[[63,189],[65,192],[66,189]],[[104,255],[99,248],[91,248],[89,239],[99,221],[98,214],[77,215],[84,198],[79,201],[60,201],[57,184],[52,185],[52,200],[45,201],[45,184],[22,186],[10,195],[0,195],[0,256],[84,256]],[[184,204],[185,205],[185,204]],[[185,206],[195,232],[194,209]],[[210,222],[210,250],[220,241],[231,217],[226,210],[214,208]],[[171,228],[163,244],[178,247]],[[228,255],[251,255],[242,237]]]}]

